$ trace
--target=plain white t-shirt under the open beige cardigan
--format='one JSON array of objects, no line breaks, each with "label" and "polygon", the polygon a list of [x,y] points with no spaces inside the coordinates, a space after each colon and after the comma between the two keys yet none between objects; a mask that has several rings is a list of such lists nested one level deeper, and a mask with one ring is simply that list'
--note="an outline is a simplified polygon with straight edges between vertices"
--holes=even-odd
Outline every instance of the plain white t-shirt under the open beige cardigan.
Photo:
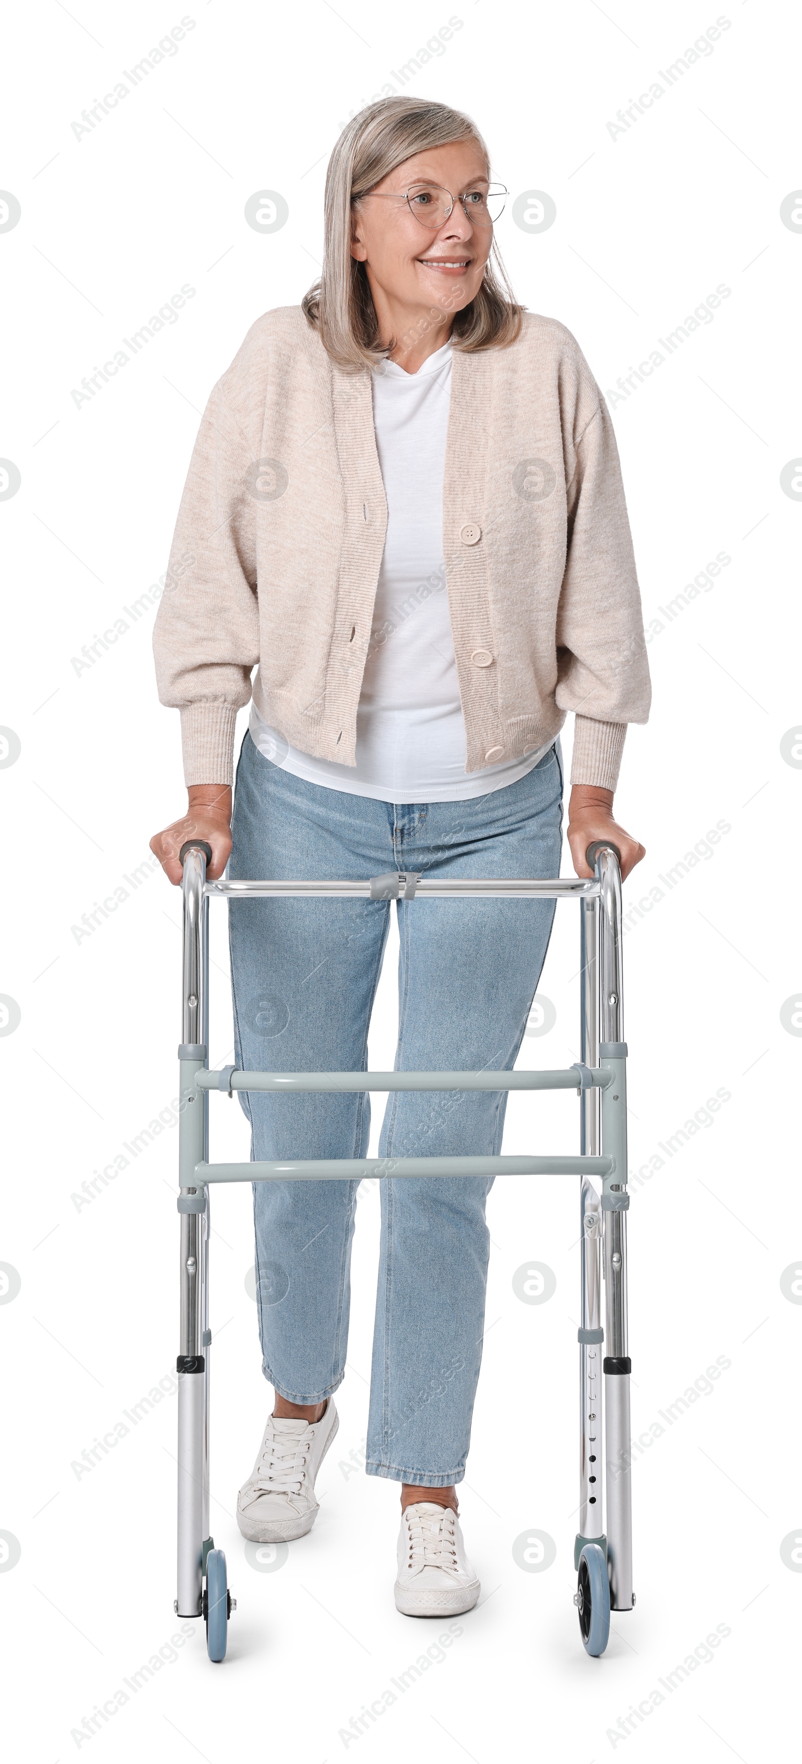
[{"label": "plain white t-shirt under the open beige cardigan", "polygon": [[372,374],[388,531],[356,711],[356,767],[289,746],[250,709],[250,737],[284,771],[384,803],[455,803],[515,783],[548,753],[465,773],[465,721],[442,557],[442,473],[451,344],[416,374]]}]

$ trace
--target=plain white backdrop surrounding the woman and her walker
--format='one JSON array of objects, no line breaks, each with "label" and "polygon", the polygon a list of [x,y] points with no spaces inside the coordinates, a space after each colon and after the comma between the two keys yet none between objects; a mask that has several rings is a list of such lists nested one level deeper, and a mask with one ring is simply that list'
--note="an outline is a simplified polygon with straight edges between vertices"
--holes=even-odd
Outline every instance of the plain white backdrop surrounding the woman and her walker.
[{"label": "plain white backdrop surrounding the woman and her walker", "polygon": [[[603,390],[719,284],[730,289],[712,323],[613,404],[647,623],[719,550],[731,559],[652,635],[654,711],[629,734],[617,797],[647,847],[627,905],[659,889],[710,827],[730,827],[631,921],[626,940],[633,1171],[654,1168],[659,1141],[728,1092],[710,1125],[633,1182],[635,1432],[717,1357],[730,1365],[638,1457],[638,1605],[613,1618],[610,1648],[592,1662],[571,1605],[576,1191],[573,1180],[548,1192],[538,1180],[497,1182],[488,1334],[460,1491],[483,1600],[442,1660],[358,1736],[351,1718],[441,1633],[395,1612],[397,1489],[354,1473],[375,1189],[361,1191],[349,1376],[319,1478],[321,1515],[273,1573],[247,1565],[233,1519],[268,1399],[245,1288],[250,1194],[213,1196],[212,1514],[238,1596],[226,1665],[208,1663],[201,1623],[180,1649],[164,1646],[178,1630],[175,1399],[164,1395],[90,1471],[72,1468],[160,1378],[169,1385],[175,1365],[176,1131],[166,1125],[90,1201],[81,1184],[171,1113],[178,898],[152,875],[90,937],[78,942],[71,926],[143,864],[150,834],[183,803],[178,718],[155,697],[152,614],[90,669],[78,674],[72,658],[164,573],[212,385],[250,323],[298,302],[314,279],[338,129],[386,83],[400,90],[390,69],[449,14],[363,0],[337,11],[323,0],[201,0],[178,53],[76,138],[71,122],[180,16],[150,0],[76,0],[74,11],[41,0],[5,21],[0,182],[21,203],[18,226],[0,235],[0,453],[21,473],[0,506],[0,723],[21,743],[0,776],[0,991],[21,1011],[0,1046],[11,1129],[0,1259],[21,1279],[0,1305],[0,1531],[21,1549],[14,1568],[7,1547],[0,1561],[9,1757],[53,1764],[90,1748],[115,1760],[298,1753],[323,1764],[356,1752],[490,1764],[536,1752],[590,1764],[622,1746],[654,1760],[682,1752],[758,1764],[795,1734],[802,1589],[781,1559],[781,1542],[802,1535],[802,1311],[779,1284],[802,1249],[797,1145],[784,1125],[800,1048],[779,1014],[800,983],[800,776],[781,755],[802,709],[802,508],[781,489],[802,446],[791,385],[802,240],[779,213],[800,175],[797,21],[791,7],[754,0],[733,0],[726,14],[469,0],[442,56],[404,88],[478,120],[511,199],[529,189],[553,198],[557,219],[539,235],[513,222],[509,199],[497,238],[518,298],[575,332]],[[730,28],[714,51],[613,138],[606,123],[716,16]],[[266,236],[243,219],[259,189],[289,205],[287,224]],[[178,321],[76,406],[72,388],[182,284],[196,295]],[[224,908],[213,917],[210,1057],[222,1064]],[[557,917],[541,981],[557,1023],[524,1043],[524,1064],[578,1055],[576,910],[566,903]],[[393,1058],[393,954],[372,1065]],[[573,1150],[575,1110],[571,1095],[513,1099],[504,1148]],[[212,1099],[212,1131],[213,1152],[247,1155],[236,1104]],[[545,1305],[513,1293],[527,1258],[555,1272]],[[513,1559],[513,1542],[532,1528],[557,1545],[543,1573]],[[647,1702],[717,1625],[728,1633],[714,1656]],[[115,1704],[162,1646],[159,1671]],[[90,1738],[81,1722],[104,1702],[116,1713]],[[619,1716],[638,1702],[650,1713],[624,1734]]]}]

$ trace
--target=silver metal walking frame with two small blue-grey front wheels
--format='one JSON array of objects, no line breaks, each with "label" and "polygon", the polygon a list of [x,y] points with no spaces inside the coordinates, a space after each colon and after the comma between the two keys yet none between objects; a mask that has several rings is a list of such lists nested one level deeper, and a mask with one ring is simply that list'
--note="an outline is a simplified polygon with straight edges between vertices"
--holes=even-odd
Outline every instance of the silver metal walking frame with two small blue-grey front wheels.
[{"label": "silver metal walking frame with two small blue-grey front wheels", "polygon": [[[610,1611],[631,1611],[631,1454],[626,1256],[626,1043],[622,1039],[622,907],[619,852],[587,850],[592,880],[458,880],[391,871],[365,882],[206,882],[212,848],[182,847],[183,1027],[178,1161],[182,1217],[182,1321],[178,1371],[178,1598],[182,1618],[204,1616],[212,1660],[226,1656],[227,1619],[236,1609],[226,1556],[210,1536],[208,1415],[210,1342],[208,1240],[213,1182],[319,1182],[363,1177],[580,1177],[580,1526],[575,1568],[582,1641],[601,1655]],[[502,1073],[243,1073],[208,1069],[208,901],[254,898],[351,900],[578,900],[580,1060],[566,1071]],[[576,1090],[578,1157],[360,1157],[212,1164],[208,1094],[224,1090]],[[594,1182],[601,1177],[601,1196]],[[601,1327],[605,1279],[605,1327]],[[603,1344],[606,1353],[603,1353]],[[603,1376],[601,1376],[603,1374]],[[605,1425],[603,1425],[605,1418]],[[603,1476],[605,1464],[605,1476]],[[603,1485],[606,1480],[606,1533]]]}]

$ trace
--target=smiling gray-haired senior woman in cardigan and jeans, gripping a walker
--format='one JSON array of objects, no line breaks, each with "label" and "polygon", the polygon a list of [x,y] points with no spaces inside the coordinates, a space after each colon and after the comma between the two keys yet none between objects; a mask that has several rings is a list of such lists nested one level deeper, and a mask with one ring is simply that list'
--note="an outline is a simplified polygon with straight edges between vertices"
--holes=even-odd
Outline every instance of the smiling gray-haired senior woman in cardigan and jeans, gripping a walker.
[{"label": "smiling gray-haired senior woman in cardigan and jeans, gripping a walker", "polygon": [[[210,877],[559,873],[568,840],[643,857],[612,803],[649,670],[619,457],[571,333],[492,259],[506,192],[446,104],[344,129],[321,280],[257,319],[192,455],[157,628],[189,811],[152,840]],[[252,670],[257,667],[252,683]],[[252,697],[236,771],[234,718]],[[397,1069],[511,1069],[553,901],[398,901]],[[236,1060],[367,1067],[390,901],[231,903]],[[367,1094],[243,1095],[252,1155],[363,1157]],[[379,1155],[497,1154],[504,1094],[393,1094]],[[263,1371],[275,1387],[243,1536],[317,1515],[337,1432],[356,1182],[254,1184]],[[395,1602],[469,1611],[457,1484],[481,1360],[490,1180],[381,1182],[367,1473],[400,1484]],[[504,1475],[516,1476],[515,1457]]]}]

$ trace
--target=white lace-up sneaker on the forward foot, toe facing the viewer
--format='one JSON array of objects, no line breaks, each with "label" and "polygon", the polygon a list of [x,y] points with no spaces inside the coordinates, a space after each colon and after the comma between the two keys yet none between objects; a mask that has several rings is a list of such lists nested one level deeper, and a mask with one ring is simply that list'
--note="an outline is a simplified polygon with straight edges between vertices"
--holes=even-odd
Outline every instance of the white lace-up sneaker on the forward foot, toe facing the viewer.
[{"label": "white lace-up sneaker on the forward foot, toe facing the viewer", "polygon": [[398,1536],[397,1611],[407,1618],[458,1616],[474,1609],[479,1593],[453,1508],[435,1501],[405,1506]]}]

